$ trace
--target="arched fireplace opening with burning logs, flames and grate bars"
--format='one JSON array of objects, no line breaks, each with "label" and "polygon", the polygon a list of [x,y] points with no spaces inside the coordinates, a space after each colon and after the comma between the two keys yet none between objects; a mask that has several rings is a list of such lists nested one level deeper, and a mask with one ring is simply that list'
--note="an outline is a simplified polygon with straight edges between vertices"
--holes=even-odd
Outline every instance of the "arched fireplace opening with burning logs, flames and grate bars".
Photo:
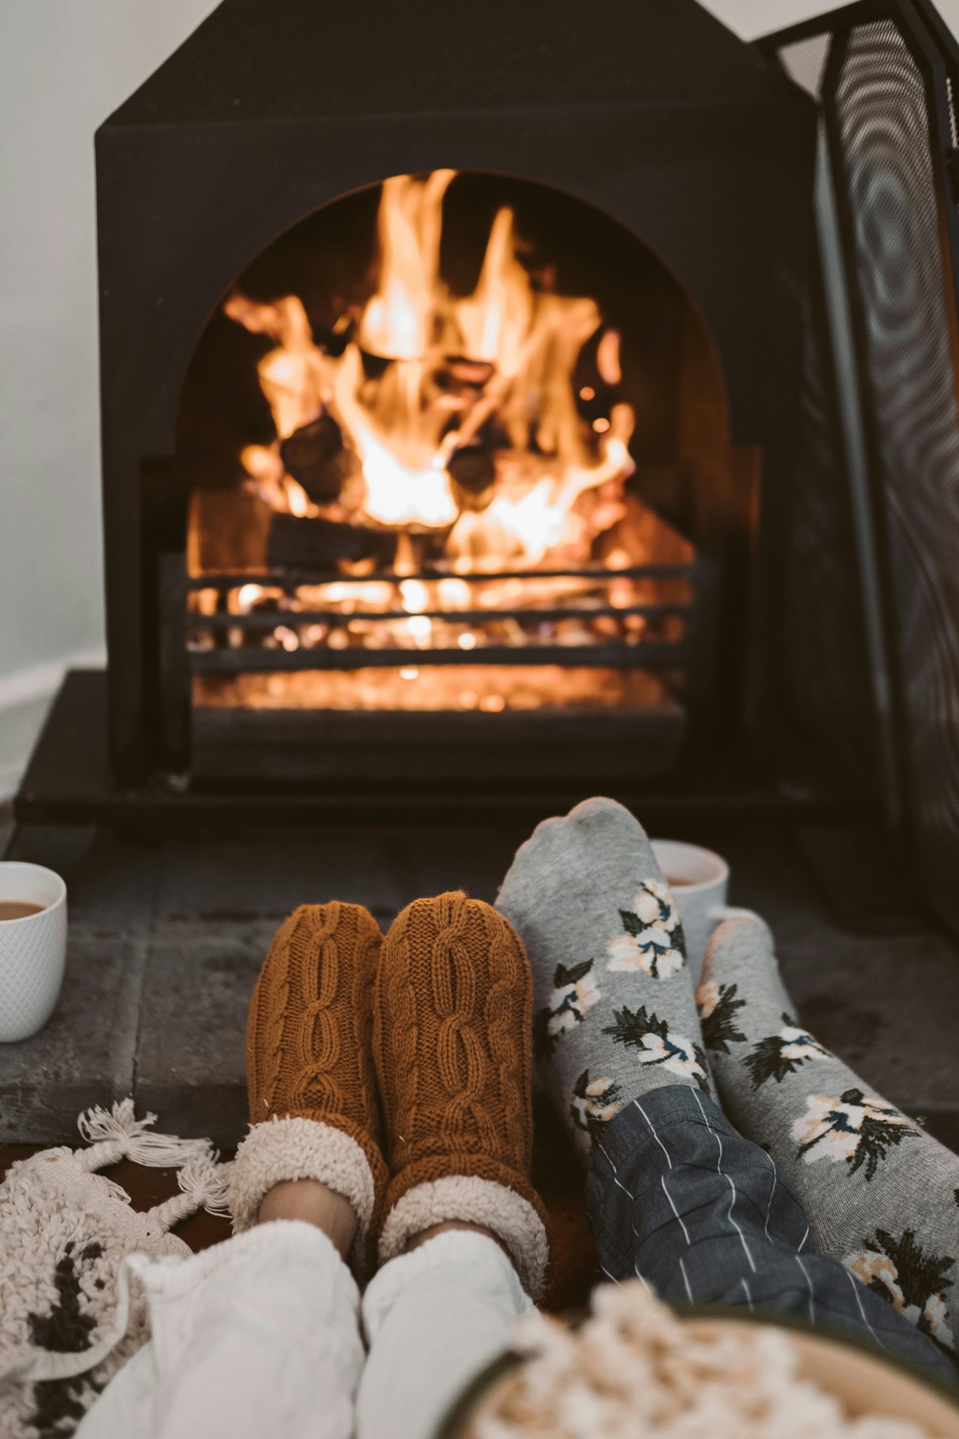
[{"label": "arched fireplace opening with burning logs, flames and grate bars", "polygon": [[682,727],[710,414],[715,466],[702,322],[581,201],[450,170],[335,201],[239,278],[185,380],[193,707]]}]

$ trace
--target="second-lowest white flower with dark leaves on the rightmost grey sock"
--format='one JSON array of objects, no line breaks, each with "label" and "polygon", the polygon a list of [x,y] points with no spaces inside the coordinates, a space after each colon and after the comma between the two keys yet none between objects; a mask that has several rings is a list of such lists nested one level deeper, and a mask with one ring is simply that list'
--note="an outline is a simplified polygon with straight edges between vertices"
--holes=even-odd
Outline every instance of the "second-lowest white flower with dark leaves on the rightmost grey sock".
[{"label": "second-lowest white flower with dark leaves on the rightmost grey sock", "polygon": [[807,1164],[831,1160],[845,1166],[850,1174],[866,1166],[866,1180],[876,1174],[880,1160],[903,1140],[916,1138],[909,1120],[886,1099],[864,1095],[861,1089],[847,1089],[838,1099],[824,1094],[809,1094],[807,1112],[792,1124],[792,1138],[798,1144],[797,1158]]}]

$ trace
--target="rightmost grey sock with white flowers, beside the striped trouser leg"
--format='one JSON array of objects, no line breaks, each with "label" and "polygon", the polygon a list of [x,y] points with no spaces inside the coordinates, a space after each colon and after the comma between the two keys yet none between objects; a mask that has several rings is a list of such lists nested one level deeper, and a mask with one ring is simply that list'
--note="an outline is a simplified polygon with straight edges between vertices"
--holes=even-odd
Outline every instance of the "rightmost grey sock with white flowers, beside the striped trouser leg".
[{"label": "rightmost grey sock with white flowers, beside the striped trouser leg", "polygon": [[821,1253],[956,1348],[959,1157],[797,1019],[762,920],[726,920],[696,991],[722,1107],[794,1184]]}]

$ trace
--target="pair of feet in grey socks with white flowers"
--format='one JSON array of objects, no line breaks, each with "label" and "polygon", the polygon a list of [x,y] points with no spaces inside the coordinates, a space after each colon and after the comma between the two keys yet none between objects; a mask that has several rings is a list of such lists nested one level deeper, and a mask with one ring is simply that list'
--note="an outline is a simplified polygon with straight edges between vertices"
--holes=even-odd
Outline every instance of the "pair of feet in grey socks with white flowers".
[{"label": "pair of feet in grey socks with white flowers", "polygon": [[774,1161],[771,1191],[792,1187],[811,1246],[955,1351],[959,1158],[798,1022],[762,920],[715,931],[694,989],[653,849],[605,799],[541,825],[496,907],[526,945],[538,1068],[587,1161],[612,1173],[608,1125],[651,1089],[717,1099]]}]

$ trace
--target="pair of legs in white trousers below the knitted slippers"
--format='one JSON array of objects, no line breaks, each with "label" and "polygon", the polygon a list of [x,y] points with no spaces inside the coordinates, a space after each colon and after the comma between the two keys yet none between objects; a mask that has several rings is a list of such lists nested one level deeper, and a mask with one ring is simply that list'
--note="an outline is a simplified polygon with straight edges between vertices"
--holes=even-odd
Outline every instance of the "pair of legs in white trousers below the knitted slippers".
[{"label": "pair of legs in white trousers below the knitted slippers", "polygon": [[499,1245],[464,1230],[384,1265],[362,1302],[329,1239],[293,1220],[131,1268],[152,1338],[78,1439],[430,1439],[531,1308]]}]

